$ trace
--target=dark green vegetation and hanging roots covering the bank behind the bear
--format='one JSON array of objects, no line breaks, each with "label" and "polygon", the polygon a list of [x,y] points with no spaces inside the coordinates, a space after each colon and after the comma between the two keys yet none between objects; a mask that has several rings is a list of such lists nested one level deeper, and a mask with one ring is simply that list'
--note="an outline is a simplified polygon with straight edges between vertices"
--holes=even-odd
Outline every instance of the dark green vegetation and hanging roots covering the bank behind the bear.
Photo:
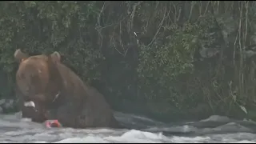
[{"label": "dark green vegetation and hanging roots covering the bank behind the bear", "polygon": [[255,119],[255,56],[245,54],[256,42],[255,7],[252,1],[0,2],[1,95],[14,95],[16,49],[57,50],[115,110],[165,120]]}]

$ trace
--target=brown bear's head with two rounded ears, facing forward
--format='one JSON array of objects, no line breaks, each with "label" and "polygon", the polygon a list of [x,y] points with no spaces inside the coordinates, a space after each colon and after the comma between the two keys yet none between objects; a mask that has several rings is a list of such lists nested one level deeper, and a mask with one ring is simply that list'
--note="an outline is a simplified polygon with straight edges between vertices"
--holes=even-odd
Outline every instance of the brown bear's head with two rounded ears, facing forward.
[{"label": "brown bear's head with two rounded ears, facing forward", "polygon": [[16,50],[14,58],[19,62],[16,85],[25,102],[34,102],[35,107],[44,113],[46,106],[58,98],[62,88],[62,77],[58,72],[60,54],[40,54],[29,56]]}]

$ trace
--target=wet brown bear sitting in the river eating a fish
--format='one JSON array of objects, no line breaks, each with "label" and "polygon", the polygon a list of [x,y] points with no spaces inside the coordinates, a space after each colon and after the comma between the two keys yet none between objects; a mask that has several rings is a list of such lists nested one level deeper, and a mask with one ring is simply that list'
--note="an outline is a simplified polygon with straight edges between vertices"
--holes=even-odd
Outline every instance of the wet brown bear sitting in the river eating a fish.
[{"label": "wet brown bear sitting in the river eating a fish", "polygon": [[[16,94],[24,117],[34,122],[58,119],[73,128],[121,127],[102,94],[62,64],[58,52],[29,56],[16,50],[14,58],[19,62]],[[34,102],[34,112],[24,102]]]}]

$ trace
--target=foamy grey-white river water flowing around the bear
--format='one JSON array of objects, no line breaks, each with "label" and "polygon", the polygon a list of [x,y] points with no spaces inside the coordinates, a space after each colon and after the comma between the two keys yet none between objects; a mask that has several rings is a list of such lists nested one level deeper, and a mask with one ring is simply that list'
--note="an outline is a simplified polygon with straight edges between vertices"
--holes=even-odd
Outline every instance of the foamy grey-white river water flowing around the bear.
[{"label": "foamy grey-white river water flowing around the bear", "polygon": [[21,113],[0,115],[0,142],[256,142],[256,122],[211,116],[198,122],[162,123],[150,118],[115,113],[130,130],[46,128]]}]

